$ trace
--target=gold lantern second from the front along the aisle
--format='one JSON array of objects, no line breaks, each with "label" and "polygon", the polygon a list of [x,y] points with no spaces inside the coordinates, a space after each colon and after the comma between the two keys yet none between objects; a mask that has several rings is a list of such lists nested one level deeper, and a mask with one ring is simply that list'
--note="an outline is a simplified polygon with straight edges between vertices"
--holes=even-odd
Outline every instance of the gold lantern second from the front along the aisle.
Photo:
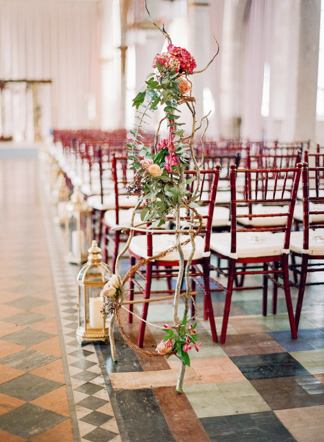
[{"label": "gold lantern second from the front along the aisle", "polygon": [[81,264],[87,260],[87,250],[91,245],[91,208],[79,186],[67,204],[66,233],[68,238],[68,262]]}]

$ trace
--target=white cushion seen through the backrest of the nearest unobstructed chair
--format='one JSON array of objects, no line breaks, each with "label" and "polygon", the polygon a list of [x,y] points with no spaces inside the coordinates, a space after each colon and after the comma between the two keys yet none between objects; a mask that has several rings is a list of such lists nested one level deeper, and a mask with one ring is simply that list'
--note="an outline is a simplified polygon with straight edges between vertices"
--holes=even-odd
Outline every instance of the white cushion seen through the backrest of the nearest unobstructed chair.
[{"label": "white cushion seen through the backrest of the nearest unobstructed chair", "polygon": [[[252,206],[252,214],[254,215],[267,215],[275,213],[287,213],[289,206],[274,206],[274,205],[262,205],[254,204]],[[237,215],[246,215],[249,213],[248,207],[237,207]],[[287,222],[286,216],[272,216],[272,217],[260,217],[260,218],[238,218],[237,221],[243,225],[249,226],[284,226]]]}]

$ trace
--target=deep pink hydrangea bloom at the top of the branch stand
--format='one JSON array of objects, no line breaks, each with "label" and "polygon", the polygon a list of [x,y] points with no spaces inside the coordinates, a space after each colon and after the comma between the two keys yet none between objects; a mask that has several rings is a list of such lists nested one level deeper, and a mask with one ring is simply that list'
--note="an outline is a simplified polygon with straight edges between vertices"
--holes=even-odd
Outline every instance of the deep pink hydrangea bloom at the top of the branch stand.
[{"label": "deep pink hydrangea bloom at the top of the branch stand", "polygon": [[157,62],[161,66],[165,66],[171,70],[175,69],[175,72],[180,73],[193,73],[193,69],[196,68],[195,59],[185,48],[180,48],[174,45],[167,47],[168,52],[162,52],[156,54],[153,60],[153,68],[156,68]]}]

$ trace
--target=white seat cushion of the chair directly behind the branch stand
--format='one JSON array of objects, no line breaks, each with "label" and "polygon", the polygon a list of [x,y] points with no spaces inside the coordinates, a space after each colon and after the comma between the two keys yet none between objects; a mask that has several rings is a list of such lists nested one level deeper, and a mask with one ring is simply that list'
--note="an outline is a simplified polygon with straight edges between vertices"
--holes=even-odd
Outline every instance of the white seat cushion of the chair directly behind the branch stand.
[{"label": "white seat cushion of the chair directly behind the branch stand", "polygon": [[[186,241],[188,239],[188,235],[181,236],[181,242]],[[164,250],[169,249],[175,245],[175,235],[169,234],[156,234],[153,235],[153,255],[157,255]],[[204,256],[209,256],[209,252],[204,252],[205,241],[204,238],[197,236],[195,238],[195,253],[193,255],[193,259],[200,259]],[[185,260],[188,259],[191,253],[191,243],[182,246],[182,250],[184,252]],[[135,236],[130,244],[129,251],[133,252],[137,256],[141,256],[143,258],[147,258],[146,255],[146,235],[137,235]],[[159,261],[179,261],[179,254],[177,250],[169,253],[168,255],[159,258]]]}]

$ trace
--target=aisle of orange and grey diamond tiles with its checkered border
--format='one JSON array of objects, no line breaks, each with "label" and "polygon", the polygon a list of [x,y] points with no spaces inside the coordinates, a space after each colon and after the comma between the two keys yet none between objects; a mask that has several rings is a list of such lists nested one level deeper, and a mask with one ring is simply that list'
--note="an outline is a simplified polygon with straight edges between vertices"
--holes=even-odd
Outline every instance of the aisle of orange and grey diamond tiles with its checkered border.
[{"label": "aisle of orange and grey diamond tiles with its checkered border", "polygon": [[37,151],[0,151],[0,177],[0,441],[120,441]]}]

